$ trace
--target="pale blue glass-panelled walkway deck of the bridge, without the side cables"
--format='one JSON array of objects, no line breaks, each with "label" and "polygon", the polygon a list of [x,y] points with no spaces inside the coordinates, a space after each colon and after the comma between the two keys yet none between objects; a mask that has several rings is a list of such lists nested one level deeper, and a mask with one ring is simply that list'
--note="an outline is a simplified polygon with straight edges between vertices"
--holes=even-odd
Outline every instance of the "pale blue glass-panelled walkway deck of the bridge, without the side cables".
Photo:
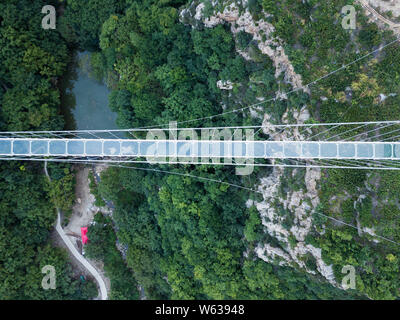
[{"label": "pale blue glass-panelled walkway deck of the bridge, without the side cables", "polygon": [[2,138],[0,156],[400,159],[400,142]]}]

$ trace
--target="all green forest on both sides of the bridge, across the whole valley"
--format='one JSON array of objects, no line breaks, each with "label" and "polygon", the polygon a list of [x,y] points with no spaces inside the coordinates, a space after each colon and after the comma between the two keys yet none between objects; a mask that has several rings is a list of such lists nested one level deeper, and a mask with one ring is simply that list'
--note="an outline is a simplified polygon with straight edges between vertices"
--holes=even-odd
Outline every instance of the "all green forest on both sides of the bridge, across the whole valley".
[{"label": "all green forest on both sides of the bridge, across the whole valley", "polygon": [[[287,99],[261,105],[258,117],[252,116],[246,107],[259,102],[257,97],[274,97],[293,87],[282,76],[276,79],[274,62],[259,49],[257,41],[266,36],[253,40],[244,31],[233,33],[227,23],[209,28],[193,16],[180,15],[200,2],[203,13],[211,16],[232,1],[215,7],[208,0],[88,0],[84,6],[80,0],[0,3],[0,130],[65,128],[59,84],[76,51],[91,53],[91,76],[111,90],[109,107],[118,114],[122,129],[169,121],[191,121],[190,126],[199,127],[250,126],[259,125],[264,114],[280,124],[286,111],[290,116],[304,106],[310,122],[396,120],[398,43],[316,83],[310,94],[293,92]],[[46,4],[57,8],[55,30],[41,28]],[[340,11],[347,4],[357,8],[356,30],[341,27]],[[237,5],[247,8],[254,21],[274,26],[273,36],[285,44],[303,83],[395,39],[392,32],[370,23],[355,1],[250,0],[246,8],[241,1]],[[218,80],[232,82],[232,90],[221,90]],[[352,89],[351,100],[343,98],[347,87]],[[388,98],[377,103],[380,93]],[[226,114],[217,116],[222,112]],[[43,163],[0,164],[0,299],[97,295],[93,282],[82,283],[73,272],[67,252],[52,244],[55,208],[68,218],[75,201],[74,171],[70,165],[48,167],[50,183]],[[305,170],[298,172],[293,177],[292,169],[285,170],[282,195],[305,188]],[[147,299],[399,298],[399,245],[375,242],[366,233],[359,235],[323,218],[354,225],[357,211],[364,227],[400,242],[397,172],[322,170],[320,205],[305,241],[321,248],[336,279],[343,276],[343,265],[356,267],[357,287],[346,291],[318,274],[279,261],[267,263],[256,255],[260,243],[284,246],[265,232],[257,208],[246,206],[249,199],[262,201],[261,196],[232,185],[253,189],[270,173],[268,167],[242,177],[229,166],[142,165],[136,170],[111,166],[99,183],[91,177],[97,205],[111,201],[114,206],[112,218],[96,214],[86,250],[88,257],[104,263],[111,282],[109,298],[140,299],[140,290]],[[367,196],[354,208],[360,193]],[[372,195],[377,208],[372,208]],[[290,229],[293,217],[278,204],[276,209],[287,215],[285,228]],[[126,257],[116,242],[127,248]],[[316,268],[312,257],[304,259],[309,269]],[[56,290],[40,288],[41,268],[48,264],[57,266]]]}]

